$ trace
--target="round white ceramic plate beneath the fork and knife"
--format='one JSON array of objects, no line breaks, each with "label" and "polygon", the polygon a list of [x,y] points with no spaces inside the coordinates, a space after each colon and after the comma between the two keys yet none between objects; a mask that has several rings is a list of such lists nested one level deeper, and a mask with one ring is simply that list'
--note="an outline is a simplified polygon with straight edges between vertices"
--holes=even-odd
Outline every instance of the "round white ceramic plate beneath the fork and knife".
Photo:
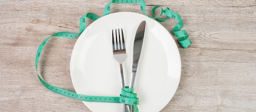
[{"label": "round white ceramic plate beneath the fork and knife", "polygon": [[[119,12],[90,24],[77,40],[70,62],[72,83],[77,93],[89,96],[119,97],[119,63],[112,53],[112,29],[123,29],[126,42],[124,78],[129,86],[135,33],[146,20],[144,42],[137,68],[134,92],[139,112],[159,112],[175,94],[181,74],[180,53],[170,33],[146,15]],[[121,112],[120,103],[83,103],[93,112]]]}]

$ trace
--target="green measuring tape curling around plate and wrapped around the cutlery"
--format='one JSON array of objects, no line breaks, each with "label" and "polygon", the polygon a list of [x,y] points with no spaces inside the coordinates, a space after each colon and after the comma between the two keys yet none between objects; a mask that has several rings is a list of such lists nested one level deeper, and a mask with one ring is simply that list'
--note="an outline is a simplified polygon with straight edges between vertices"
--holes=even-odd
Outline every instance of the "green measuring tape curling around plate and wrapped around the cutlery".
[{"label": "green measuring tape curling around plate and wrapped around the cutlery", "polygon": [[[140,4],[140,8],[141,11],[146,14],[146,2],[144,0],[112,0],[111,2],[109,2],[105,9],[104,9],[104,15],[108,15],[110,14],[110,7],[112,3],[124,3],[124,4]],[[155,17],[155,10],[157,8],[161,9],[161,14],[158,17]],[[159,19],[159,17],[162,14],[166,15],[165,19]],[[178,20],[178,23],[175,25],[174,29],[173,29],[173,33],[179,37],[178,41],[180,42],[180,44],[182,45],[183,48],[187,48],[188,46],[190,46],[192,44],[191,40],[188,38],[189,35],[185,30],[181,30],[182,26],[183,26],[183,22],[180,18],[180,15],[170,11],[169,8],[167,7],[166,9],[163,9],[162,7],[159,6],[155,6],[152,9],[152,14],[153,17],[148,16],[149,18],[152,19],[156,19],[159,22],[164,22],[166,21],[168,18],[173,18],[175,20]],[[54,35],[46,38],[45,40],[43,40],[43,42],[40,44],[40,46],[38,47],[37,53],[36,53],[36,60],[35,60],[35,65],[36,65],[36,73],[37,76],[39,78],[39,80],[41,81],[41,83],[48,88],[49,90],[52,90],[53,92],[56,92],[58,94],[61,94],[63,96],[66,97],[70,97],[73,99],[77,99],[77,100],[81,100],[81,101],[89,101],[89,102],[106,102],[106,103],[125,103],[128,105],[135,105],[135,112],[139,112],[137,105],[139,105],[139,98],[137,98],[137,94],[135,94],[133,92],[133,88],[122,88],[121,89],[121,94],[119,94],[119,97],[104,97],[104,96],[87,96],[87,95],[83,95],[83,94],[77,94],[75,92],[71,92],[68,90],[64,90],[55,86],[52,86],[50,84],[48,84],[47,82],[45,82],[39,75],[38,75],[38,61],[40,58],[40,55],[43,51],[43,48],[45,46],[45,44],[47,43],[47,41],[49,40],[49,38],[51,37],[64,37],[64,38],[76,38],[78,37],[84,30],[86,27],[86,18],[89,18],[91,20],[97,20],[98,18],[100,18],[100,16],[95,15],[93,13],[87,13],[86,15],[83,15],[80,18],[80,22],[79,22],[79,33],[71,33],[71,32],[59,32],[59,33],[55,33]],[[181,31],[180,31],[181,30]],[[129,96],[129,97],[127,97]]]}]

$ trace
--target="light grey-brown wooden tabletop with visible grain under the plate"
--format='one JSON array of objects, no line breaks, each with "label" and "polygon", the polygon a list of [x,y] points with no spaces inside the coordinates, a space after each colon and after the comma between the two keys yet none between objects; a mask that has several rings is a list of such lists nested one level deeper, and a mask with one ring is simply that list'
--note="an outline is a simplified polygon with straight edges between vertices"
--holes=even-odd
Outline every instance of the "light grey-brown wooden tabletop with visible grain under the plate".
[{"label": "light grey-brown wooden tabletop with visible grain under the plate", "polygon": [[[36,75],[40,43],[61,31],[79,32],[86,13],[103,15],[110,0],[2,0],[0,3],[0,111],[83,111],[81,101],[45,88]],[[180,84],[161,112],[256,111],[256,0],[145,0],[182,17],[193,42],[184,49],[172,29],[182,62]],[[139,4],[112,4],[111,13],[142,13]],[[143,13],[142,13],[143,14]],[[93,21],[87,19],[87,25]],[[77,39],[54,37],[40,57],[39,74],[48,83],[75,91],[70,56]],[[56,81],[58,80],[58,81]],[[149,107],[150,108],[150,107]]]}]

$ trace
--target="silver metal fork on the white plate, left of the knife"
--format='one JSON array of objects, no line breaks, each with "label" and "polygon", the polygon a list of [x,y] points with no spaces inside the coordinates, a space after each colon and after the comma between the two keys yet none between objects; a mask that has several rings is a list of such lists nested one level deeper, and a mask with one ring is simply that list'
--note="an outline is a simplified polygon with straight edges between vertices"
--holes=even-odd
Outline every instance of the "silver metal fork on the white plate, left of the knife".
[{"label": "silver metal fork on the white plate, left of the knife", "polygon": [[[115,29],[115,33],[112,30],[112,48],[113,48],[114,58],[119,62],[119,65],[120,65],[122,88],[125,88],[122,63],[126,57],[126,49],[125,49],[123,29],[121,29],[121,36],[120,36],[120,31],[118,29],[118,37],[117,37],[117,29]],[[123,103],[123,112],[130,112],[129,105],[126,105]]]}]

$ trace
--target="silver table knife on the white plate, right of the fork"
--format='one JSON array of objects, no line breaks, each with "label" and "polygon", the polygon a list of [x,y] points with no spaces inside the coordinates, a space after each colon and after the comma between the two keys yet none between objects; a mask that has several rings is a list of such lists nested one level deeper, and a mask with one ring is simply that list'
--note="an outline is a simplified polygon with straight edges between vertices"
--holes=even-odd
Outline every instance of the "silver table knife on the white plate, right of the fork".
[{"label": "silver table knife on the white plate, right of the fork", "polygon": [[[130,79],[129,88],[134,87],[135,76],[136,76],[137,67],[138,67],[138,63],[139,63],[139,56],[141,53],[141,48],[142,48],[142,43],[143,43],[143,38],[144,38],[145,26],[146,26],[146,21],[142,21],[139,24],[139,27],[135,33],[135,39],[134,39],[134,44],[133,44],[132,75],[131,75],[131,79]],[[130,112],[132,112],[131,105],[130,105]]]}]

